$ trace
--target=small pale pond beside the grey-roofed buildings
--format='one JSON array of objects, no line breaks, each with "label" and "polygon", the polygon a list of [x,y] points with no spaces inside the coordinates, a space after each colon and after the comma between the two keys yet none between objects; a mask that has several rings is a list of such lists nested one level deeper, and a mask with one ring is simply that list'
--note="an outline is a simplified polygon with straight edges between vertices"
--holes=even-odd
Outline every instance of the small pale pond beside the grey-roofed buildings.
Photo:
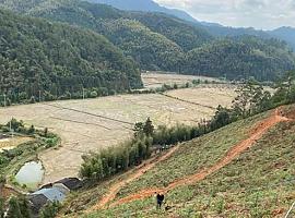
[{"label": "small pale pond beside the grey-roofed buildings", "polygon": [[26,162],[16,173],[16,182],[31,189],[37,189],[43,180],[44,169],[40,161]]}]

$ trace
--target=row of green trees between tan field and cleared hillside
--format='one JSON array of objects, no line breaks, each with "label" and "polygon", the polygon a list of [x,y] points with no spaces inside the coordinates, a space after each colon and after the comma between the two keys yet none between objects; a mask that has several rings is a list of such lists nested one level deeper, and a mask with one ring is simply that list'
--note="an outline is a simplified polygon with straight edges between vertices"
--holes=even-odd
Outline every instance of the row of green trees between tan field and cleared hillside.
[{"label": "row of green trees between tan field and cleared hillside", "polygon": [[157,146],[161,146],[161,149],[167,149],[170,145],[199,137],[228,123],[228,121],[221,120],[220,114],[216,113],[212,121],[203,120],[197,126],[178,124],[167,128],[161,125],[155,130],[149,118],[145,123],[134,125],[132,140],[103,149],[98,154],[83,156],[81,177],[93,181],[107,179],[140,165],[142,160],[151,157],[153,149],[158,149]]}]

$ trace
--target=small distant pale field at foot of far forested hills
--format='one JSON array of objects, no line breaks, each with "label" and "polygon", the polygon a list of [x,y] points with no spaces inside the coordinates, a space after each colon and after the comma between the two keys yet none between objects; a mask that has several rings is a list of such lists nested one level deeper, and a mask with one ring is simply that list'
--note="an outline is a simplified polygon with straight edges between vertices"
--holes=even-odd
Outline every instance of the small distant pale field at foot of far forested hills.
[{"label": "small distant pale field at foot of far forested hills", "polygon": [[142,77],[142,81],[143,81],[145,88],[157,88],[164,84],[184,85],[186,83],[191,83],[192,81],[221,82],[217,78],[206,77],[206,76],[181,75],[181,74],[176,74],[176,73],[164,73],[164,72],[153,72],[153,71],[142,73],[141,77]]}]

